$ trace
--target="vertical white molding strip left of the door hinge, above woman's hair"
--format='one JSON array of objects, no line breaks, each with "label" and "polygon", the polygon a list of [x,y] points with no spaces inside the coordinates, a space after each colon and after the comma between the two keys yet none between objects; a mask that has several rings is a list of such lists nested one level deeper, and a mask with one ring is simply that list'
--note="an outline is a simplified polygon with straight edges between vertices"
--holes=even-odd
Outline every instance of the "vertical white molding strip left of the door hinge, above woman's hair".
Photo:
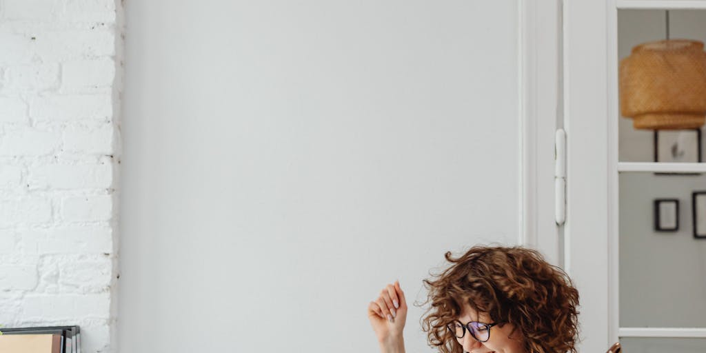
[{"label": "vertical white molding strip left of the door hinge, above woman's hair", "polygon": [[520,1],[520,244],[560,263],[554,222],[554,131],[559,84],[559,1]]}]

